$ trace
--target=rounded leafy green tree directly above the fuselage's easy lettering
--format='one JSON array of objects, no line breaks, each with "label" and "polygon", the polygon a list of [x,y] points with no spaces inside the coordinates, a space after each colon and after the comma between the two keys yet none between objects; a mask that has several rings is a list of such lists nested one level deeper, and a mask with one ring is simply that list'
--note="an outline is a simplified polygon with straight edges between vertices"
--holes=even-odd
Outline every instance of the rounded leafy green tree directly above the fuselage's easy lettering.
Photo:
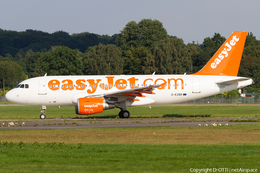
[{"label": "rounded leafy green tree directly above the fuselage's easy lettering", "polygon": [[39,54],[36,74],[48,76],[82,75],[82,61],[79,50],[66,46],[52,46],[48,52]]}]

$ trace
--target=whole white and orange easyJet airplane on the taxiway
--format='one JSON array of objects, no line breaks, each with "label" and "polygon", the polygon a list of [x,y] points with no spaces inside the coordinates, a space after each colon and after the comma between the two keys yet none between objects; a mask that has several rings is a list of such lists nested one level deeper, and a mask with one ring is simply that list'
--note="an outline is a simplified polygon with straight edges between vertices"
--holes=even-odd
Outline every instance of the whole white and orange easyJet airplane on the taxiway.
[{"label": "whole white and orange easyJet airplane on the taxiway", "polygon": [[6,93],[8,101],[40,106],[75,106],[76,114],[89,115],[126,107],[173,104],[199,99],[253,84],[237,77],[247,31],[235,31],[199,72],[191,75],[45,76],[27,79]]}]

